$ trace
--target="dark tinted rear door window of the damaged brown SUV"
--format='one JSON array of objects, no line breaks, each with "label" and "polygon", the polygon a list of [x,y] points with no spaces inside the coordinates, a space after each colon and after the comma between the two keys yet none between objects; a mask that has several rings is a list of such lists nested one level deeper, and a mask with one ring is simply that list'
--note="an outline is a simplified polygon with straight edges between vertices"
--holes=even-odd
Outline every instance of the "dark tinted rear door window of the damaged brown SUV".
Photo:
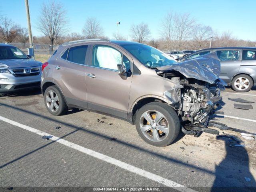
[{"label": "dark tinted rear door window of the damaged brown SUV", "polygon": [[69,48],[67,60],[78,64],[84,64],[87,47],[87,45],[83,45]]}]

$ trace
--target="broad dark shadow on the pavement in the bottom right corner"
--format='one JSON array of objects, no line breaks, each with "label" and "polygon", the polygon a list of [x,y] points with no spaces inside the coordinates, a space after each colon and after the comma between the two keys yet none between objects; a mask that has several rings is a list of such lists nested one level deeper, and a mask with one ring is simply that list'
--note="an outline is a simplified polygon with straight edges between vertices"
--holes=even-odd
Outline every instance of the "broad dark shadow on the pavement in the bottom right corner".
[{"label": "broad dark shadow on the pavement in the bottom right corner", "polygon": [[[249,156],[246,149],[241,146],[231,147],[228,138],[217,139],[224,140],[226,156],[219,165],[216,165],[211,192],[255,191],[256,182],[249,170]],[[239,182],[244,186],[238,186]]]}]

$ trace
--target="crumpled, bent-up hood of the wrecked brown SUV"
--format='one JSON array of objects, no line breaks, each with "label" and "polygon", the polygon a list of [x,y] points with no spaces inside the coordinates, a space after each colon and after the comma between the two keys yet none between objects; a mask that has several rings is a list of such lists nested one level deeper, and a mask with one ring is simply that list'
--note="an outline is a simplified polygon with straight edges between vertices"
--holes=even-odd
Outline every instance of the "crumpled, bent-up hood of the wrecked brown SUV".
[{"label": "crumpled, bent-up hood of the wrecked brown SUV", "polygon": [[175,70],[186,78],[194,78],[214,84],[220,76],[220,60],[216,52],[169,66],[157,67],[160,71]]}]

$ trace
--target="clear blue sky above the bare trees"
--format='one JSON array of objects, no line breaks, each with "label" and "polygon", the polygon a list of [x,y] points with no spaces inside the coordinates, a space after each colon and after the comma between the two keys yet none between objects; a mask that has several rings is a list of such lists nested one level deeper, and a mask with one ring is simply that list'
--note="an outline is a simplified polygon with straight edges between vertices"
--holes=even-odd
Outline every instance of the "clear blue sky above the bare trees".
[{"label": "clear blue sky above the bare trees", "polygon": [[[36,29],[43,2],[29,0],[32,34],[42,35]],[[189,12],[198,23],[209,25],[218,32],[229,30],[244,40],[256,40],[255,0],[59,0],[67,10],[70,32],[82,32],[85,20],[96,17],[105,35],[112,38],[119,31],[130,34],[132,24],[148,24],[151,37],[159,38],[159,26],[164,15],[173,12]],[[0,15],[6,15],[22,27],[27,27],[24,0],[1,0]],[[129,37],[130,38],[130,37]]]}]

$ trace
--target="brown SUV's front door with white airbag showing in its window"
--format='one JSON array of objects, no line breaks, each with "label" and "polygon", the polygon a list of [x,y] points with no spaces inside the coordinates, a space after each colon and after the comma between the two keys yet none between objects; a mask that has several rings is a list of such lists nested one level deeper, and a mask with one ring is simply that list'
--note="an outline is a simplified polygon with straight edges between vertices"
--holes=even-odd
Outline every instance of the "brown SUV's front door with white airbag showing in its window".
[{"label": "brown SUV's front door with white airbag showing in its window", "polygon": [[[132,81],[131,63],[116,48],[94,45],[92,63],[86,71],[88,108],[127,118]],[[117,64],[126,67],[126,76],[119,75]]]}]

